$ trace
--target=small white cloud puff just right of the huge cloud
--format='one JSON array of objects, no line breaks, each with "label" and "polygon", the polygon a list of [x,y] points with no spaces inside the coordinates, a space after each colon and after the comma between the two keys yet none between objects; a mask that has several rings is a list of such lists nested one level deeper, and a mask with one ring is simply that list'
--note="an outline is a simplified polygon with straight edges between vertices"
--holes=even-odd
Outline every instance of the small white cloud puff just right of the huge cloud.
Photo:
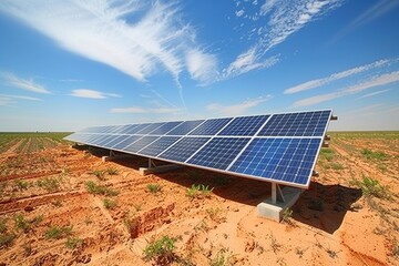
[{"label": "small white cloud puff just right of the huge cloud", "polygon": [[194,80],[206,84],[217,79],[217,59],[213,54],[204,53],[197,49],[191,50],[186,54],[186,64]]}]

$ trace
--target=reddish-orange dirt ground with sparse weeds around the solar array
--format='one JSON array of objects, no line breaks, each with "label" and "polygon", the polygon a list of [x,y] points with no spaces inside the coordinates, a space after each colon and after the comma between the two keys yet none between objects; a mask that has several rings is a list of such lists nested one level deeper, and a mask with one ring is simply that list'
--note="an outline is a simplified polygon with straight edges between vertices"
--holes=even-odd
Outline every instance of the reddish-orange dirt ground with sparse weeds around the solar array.
[{"label": "reddish-orange dirt ground with sparse weeds around the solar array", "polygon": [[[282,223],[257,216],[268,183],[16,144],[0,155],[0,265],[399,265],[399,137],[370,134],[332,134]],[[151,255],[158,239],[172,244]]]}]

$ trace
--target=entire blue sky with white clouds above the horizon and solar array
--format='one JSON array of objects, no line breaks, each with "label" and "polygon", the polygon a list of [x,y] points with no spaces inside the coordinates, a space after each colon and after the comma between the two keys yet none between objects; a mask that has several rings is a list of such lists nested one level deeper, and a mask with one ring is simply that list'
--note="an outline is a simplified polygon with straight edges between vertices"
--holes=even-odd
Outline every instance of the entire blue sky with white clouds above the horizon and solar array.
[{"label": "entire blue sky with white clouds above the horizon and solar array", "polygon": [[0,131],[332,109],[399,130],[399,1],[0,2]]}]

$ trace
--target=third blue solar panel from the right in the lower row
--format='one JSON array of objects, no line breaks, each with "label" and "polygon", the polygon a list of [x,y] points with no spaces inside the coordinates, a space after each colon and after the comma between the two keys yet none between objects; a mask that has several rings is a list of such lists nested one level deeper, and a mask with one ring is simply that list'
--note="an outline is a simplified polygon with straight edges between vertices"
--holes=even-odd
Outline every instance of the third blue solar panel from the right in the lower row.
[{"label": "third blue solar panel from the right in the lower row", "polygon": [[209,139],[211,137],[183,137],[165,152],[161,153],[158,157],[175,162],[185,162]]}]

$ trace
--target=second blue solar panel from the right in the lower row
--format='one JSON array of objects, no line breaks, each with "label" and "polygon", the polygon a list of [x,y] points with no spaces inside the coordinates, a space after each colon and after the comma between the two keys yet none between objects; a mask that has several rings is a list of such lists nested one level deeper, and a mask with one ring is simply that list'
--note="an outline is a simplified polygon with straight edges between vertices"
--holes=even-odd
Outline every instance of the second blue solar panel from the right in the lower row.
[{"label": "second blue solar panel from the right in the lower row", "polygon": [[187,163],[225,170],[249,140],[249,137],[215,137],[206,143]]}]

